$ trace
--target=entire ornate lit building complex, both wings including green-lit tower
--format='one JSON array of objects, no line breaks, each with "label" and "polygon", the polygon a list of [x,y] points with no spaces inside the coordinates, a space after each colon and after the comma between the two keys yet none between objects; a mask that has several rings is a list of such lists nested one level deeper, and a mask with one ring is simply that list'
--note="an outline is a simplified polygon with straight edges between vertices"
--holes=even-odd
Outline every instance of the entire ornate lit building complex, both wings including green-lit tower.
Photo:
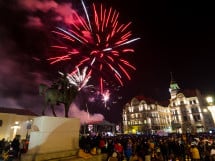
[{"label": "entire ornate lit building complex, both wings including green-lit tower", "polygon": [[199,133],[214,128],[212,104],[198,90],[181,91],[171,79],[170,99],[162,104],[136,96],[124,106],[124,133]]}]

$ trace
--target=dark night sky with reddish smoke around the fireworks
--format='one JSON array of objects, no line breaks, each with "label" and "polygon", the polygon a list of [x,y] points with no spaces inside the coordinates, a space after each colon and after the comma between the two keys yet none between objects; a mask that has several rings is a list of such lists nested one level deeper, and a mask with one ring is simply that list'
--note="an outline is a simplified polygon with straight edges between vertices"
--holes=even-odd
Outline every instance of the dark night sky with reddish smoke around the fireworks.
[{"label": "dark night sky with reddish smoke around the fireworks", "polygon": [[[92,2],[86,0],[85,4]],[[119,123],[123,105],[136,95],[168,100],[170,72],[181,89],[214,93],[215,11],[212,2],[94,2],[102,2],[119,11],[121,22],[132,21],[133,37],[141,38],[132,43],[135,53],[129,58],[136,71],[119,91],[111,93],[107,107],[100,101],[86,103],[87,99],[83,101],[79,95],[72,108],[74,116],[89,117],[85,112],[87,104],[91,120],[104,117]],[[44,99],[38,94],[38,85],[50,83],[58,70],[44,61],[51,42],[50,29],[58,25],[54,18],[60,15],[68,20],[67,13],[78,11],[80,4],[78,0],[0,0],[1,107],[26,108],[41,113]],[[61,107],[56,110],[62,113]]]}]

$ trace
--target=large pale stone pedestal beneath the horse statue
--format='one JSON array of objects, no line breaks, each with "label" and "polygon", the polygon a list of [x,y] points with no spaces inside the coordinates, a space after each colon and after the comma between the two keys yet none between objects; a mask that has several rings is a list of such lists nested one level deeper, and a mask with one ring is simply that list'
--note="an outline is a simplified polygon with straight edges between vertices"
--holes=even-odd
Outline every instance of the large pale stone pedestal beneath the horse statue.
[{"label": "large pale stone pedestal beneath the horse statue", "polygon": [[37,117],[33,121],[28,152],[22,161],[42,161],[76,155],[79,149],[78,118]]}]

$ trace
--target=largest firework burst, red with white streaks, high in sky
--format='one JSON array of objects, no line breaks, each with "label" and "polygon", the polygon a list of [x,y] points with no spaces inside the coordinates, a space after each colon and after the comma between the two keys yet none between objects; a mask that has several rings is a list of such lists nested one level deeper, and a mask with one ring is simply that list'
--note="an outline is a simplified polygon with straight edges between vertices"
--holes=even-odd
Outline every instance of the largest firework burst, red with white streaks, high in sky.
[{"label": "largest firework burst, red with white streaks, high in sky", "polygon": [[48,60],[50,64],[63,62],[71,67],[71,73],[74,67],[87,66],[87,75],[98,78],[100,92],[105,96],[106,80],[115,80],[123,86],[124,77],[131,79],[129,71],[136,68],[124,57],[134,49],[126,46],[139,38],[131,38],[131,22],[120,24],[119,12],[113,8],[93,4],[90,17],[83,1],[82,6],[83,17],[74,12],[74,23],[52,31],[62,43],[52,46],[54,53]]}]

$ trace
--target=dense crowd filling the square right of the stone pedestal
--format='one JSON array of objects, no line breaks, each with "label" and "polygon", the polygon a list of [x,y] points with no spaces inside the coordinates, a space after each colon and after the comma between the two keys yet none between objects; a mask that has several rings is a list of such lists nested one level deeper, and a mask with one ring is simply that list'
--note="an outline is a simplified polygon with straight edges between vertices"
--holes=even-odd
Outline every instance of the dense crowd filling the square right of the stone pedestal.
[{"label": "dense crowd filling the square right of the stone pedestal", "polygon": [[86,153],[97,148],[107,161],[215,161],[215,135],[172,134],[82,136],[79,146]]}]

